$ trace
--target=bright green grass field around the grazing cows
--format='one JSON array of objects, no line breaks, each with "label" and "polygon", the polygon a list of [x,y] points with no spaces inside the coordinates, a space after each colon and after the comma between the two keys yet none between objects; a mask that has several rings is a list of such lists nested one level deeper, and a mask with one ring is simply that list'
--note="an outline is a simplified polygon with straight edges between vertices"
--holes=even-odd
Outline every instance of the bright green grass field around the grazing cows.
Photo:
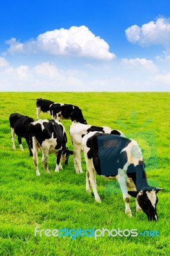
[{"label": "bright green grass field around the grazing cows", "polygon": [[[36,177],[26,141],[20,151],[12,149],[9,116],[11,113],[29,115],[36,120],[35,100],[38,97],[75,104],[82,109],[88,124],[107,125],[121,130],[128,138],[137,140],[143,151],[150,185],[164,188],[158,193],[159,220],[149,222],[143,212],[136,214],[131,198],[132,218],[125,216],[125,204],[118,184],[97,177],[97,204],[93,194],[87,195],[86,164],[84,173],[76,175],[73,157],[68,166],[54,173],[55,157],[49,157],[50,175],[42,166]],[[169,93],[0,93],[0,255],[170,255],[169,250]],[[41,113],[40,118],[50,118]],[[70,120],[63,120],[68,136]],[[108,237],[35,237],[40,229],[87,228],[109,230],[157,230],[159,236]]]}]

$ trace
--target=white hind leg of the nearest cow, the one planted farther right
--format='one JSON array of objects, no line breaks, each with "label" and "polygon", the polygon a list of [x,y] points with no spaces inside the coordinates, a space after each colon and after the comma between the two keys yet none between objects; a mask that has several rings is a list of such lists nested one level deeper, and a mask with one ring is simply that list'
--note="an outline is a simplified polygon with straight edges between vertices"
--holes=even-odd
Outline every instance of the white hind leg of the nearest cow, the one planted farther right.
[{"label": "white hind leg of the nearest cow, the one planted farther right", "polygon": [[87,168],[88,168],[88,172],[89,172],[89,184],[91,185],[91,187],[93,189],[93,193],[95,195],[96,202],[99,203],[99,202],[101,202],[101,200],[100,200],[100,196],[98,195],[98,192],[97,192],[96,173],[92,166],[91,159],[88,159]]}]

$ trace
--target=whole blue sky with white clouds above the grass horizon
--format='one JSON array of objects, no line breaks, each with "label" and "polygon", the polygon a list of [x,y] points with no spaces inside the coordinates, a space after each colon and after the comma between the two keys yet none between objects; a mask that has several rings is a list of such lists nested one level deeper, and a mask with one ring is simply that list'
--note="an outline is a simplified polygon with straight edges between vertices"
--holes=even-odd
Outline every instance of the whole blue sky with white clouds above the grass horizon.
[{"label": "whole blue sky with white clouds above the grass horizon", "polygon": [[169,91],[168,0],[3,1],[1,91]]}]

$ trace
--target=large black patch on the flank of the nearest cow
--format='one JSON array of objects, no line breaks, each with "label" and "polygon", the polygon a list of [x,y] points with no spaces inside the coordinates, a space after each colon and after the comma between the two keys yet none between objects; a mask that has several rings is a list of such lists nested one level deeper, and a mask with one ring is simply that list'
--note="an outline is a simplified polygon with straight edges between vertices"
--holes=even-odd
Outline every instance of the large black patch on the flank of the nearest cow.
[{"label": "large black patch on the flank of the nearest cow", "polygon": [[[117,135],[96,133],[87,141],[88,158],[93,158],[93,164],[98,175],[115,176],[120,165],[125,165],[125,154],[120,152],[131,140]],[[122,159],[121,159],[122,158]]]}]

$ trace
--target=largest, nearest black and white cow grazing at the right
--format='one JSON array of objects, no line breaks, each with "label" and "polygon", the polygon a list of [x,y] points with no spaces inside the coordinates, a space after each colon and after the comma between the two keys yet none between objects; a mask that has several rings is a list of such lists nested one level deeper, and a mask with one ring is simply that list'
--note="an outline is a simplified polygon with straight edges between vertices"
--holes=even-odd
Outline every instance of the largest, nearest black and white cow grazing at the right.
[{"label": "largest, nearest black and white cow grazing at the right", "polygon": [[[82,138],[82,149],[87,165],[86,191],[91,193],[91,186],[97,202],[101,201],[97,193],[95,171],[109,179],[116,177],[128,216],[132,217],[129,206],[131,195],[136,198],[138,211],[142,209],[148,220],[158,220],[157,192],[163,189],[148,185],[143,156],[136,141],[102,132],[89,132]],[[127,187],[134,191],[127,191]]]}]

